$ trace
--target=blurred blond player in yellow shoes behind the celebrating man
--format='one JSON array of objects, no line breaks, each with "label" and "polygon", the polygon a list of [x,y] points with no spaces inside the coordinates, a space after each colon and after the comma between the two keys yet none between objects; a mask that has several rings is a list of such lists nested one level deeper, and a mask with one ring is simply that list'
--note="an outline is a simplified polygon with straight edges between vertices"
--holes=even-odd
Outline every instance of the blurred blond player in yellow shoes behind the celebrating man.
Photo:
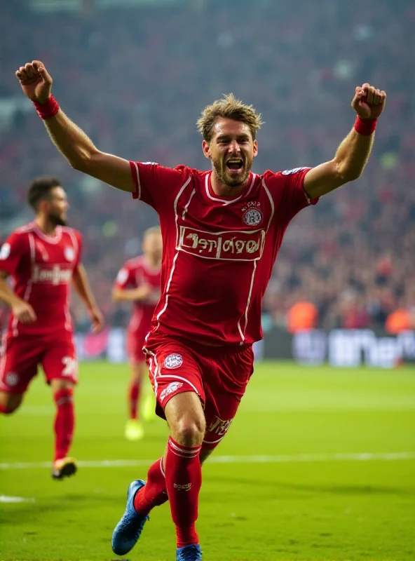
[{"label": "blurred blond player in yellow shoes behind the celebrating man", "polygon": [[[162,256],[161,231],[149,228],[143,236],[143,255],[129,259],[118,272],[112,291],[115,302],[132,302],[132,315],[127,332],[127,353],[131,364],[131,380],[128,389],[130,418],[125,426],[127,440],[140,440],[144,428],[140,421],[140,395],[147,371],[143,353],[144,339],[151,329],[151,318],[160,299],[160,271]],[[154,415],[154,398],[149,393],[144,399],[143,419]]]}]

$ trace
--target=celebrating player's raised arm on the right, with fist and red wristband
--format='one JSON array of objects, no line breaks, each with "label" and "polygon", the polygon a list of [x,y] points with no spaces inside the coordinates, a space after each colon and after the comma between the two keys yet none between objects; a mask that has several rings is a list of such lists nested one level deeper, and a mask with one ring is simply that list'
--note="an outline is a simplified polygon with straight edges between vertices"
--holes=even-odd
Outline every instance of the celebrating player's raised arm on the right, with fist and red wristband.
[{"label": "celebrating player's raised arm on the right, with fist and red wristband", "polygon": [[385,103],[383,90],[368,83],[356,88],[352,100],[352,107],[358,114],[355,126],[341,142],[334,158],[316,166],[304,177],[304,189],[310,198],[325,195],[362,175],[372,150],[376,120]]}]

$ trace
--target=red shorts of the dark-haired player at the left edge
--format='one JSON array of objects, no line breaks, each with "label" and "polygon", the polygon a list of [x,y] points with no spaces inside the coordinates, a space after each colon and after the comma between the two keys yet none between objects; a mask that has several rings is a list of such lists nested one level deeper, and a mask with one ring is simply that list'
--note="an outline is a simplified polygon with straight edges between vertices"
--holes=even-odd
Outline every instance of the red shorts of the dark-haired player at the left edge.
[{"label": "red shorts of the dark-haired player at the left edge", "polygon": [[0,354],[0,391],[25,393],[42,365],[48,384],[53,379],[78,381],[72,334],[60,337],[13,337],[6,334]]}]

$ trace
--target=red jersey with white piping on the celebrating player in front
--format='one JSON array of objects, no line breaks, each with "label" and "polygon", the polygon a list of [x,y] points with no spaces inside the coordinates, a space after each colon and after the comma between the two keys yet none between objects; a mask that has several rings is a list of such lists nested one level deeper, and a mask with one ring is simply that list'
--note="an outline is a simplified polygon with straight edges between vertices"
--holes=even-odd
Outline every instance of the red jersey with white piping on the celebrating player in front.
[{"label": "red jersey with white piping on the celebrating player in front", "polygon": [[151,205],[163,236],[161,331],[201,343],[262,337],[261,301],[290,220],[317,203],[304,191],[310,168],[250,173],[243,194],[217,196],[212,172],[130,162],[134,198]]}]

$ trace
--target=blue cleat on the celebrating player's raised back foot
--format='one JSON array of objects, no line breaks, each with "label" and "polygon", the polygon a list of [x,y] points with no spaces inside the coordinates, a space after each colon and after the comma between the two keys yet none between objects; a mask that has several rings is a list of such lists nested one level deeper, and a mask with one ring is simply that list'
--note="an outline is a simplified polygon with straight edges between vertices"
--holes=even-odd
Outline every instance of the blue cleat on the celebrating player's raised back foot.
[{"label": "blue cleat on the celebrating player's raised back foot", "polygon": [[135,494],[144,485],[145,481],[137,479],[128,487],[125,513],[112,533],[111,546],[116,555],[125,555],[132,550],[141,536],[144,524],[149,520],[147,515],[138,514],[134,508]]}]

